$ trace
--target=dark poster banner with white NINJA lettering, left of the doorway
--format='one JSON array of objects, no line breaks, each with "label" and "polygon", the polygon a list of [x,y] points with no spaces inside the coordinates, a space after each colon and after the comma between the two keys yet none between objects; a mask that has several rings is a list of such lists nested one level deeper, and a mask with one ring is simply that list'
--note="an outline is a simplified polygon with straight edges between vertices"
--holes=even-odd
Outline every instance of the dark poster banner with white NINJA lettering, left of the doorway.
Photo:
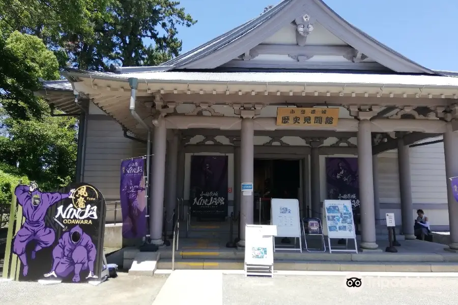
[{"label": "dark poster banner with white NINJA lettering, left of the doorway", "polygon": [[227,216],[227,156],[192,156],[191,214],[198,217]]}]

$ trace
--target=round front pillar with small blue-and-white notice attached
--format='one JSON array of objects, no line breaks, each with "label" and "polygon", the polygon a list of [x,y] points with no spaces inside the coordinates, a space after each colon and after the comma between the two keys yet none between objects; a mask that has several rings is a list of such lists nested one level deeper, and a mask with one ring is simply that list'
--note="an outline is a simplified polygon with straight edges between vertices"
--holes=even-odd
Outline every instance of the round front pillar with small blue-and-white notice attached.
[{"label": "round front pillar with small blue-and-white notice attached", "polygon": [[[243,182],[253,182],[254,179],[254,121],[252,118],[242,119],[240,143],[240,177]],[[245,225],[253,224],[254,196],[240,196],[240,241],[238,245],[245,247]]]}]

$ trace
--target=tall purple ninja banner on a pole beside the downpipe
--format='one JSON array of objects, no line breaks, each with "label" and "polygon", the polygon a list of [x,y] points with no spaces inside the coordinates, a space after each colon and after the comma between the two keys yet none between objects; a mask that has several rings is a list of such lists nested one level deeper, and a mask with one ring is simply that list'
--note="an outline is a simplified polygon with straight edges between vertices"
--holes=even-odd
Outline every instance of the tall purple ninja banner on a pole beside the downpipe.
[{"label": "tall purple ninja banner on a pole beside the downpipe", "polygon": [[141,238],[146,235],[145,159],[121,162],[121,211],[123,237]]}]

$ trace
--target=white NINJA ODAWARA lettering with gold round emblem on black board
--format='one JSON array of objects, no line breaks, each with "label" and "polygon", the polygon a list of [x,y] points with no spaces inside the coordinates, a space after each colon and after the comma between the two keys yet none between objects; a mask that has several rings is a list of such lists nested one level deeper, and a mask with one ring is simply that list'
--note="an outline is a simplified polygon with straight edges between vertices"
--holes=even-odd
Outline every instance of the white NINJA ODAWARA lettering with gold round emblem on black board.
[{"label": "white NINJA ODAWARA lettering with gold round emblem on black board", "polygon": [[91,186],[80,186],[69,198],[72,203],[59,206],[55,218],[62,217],[64,224],[92,225],[97,219],[97,191]]}]

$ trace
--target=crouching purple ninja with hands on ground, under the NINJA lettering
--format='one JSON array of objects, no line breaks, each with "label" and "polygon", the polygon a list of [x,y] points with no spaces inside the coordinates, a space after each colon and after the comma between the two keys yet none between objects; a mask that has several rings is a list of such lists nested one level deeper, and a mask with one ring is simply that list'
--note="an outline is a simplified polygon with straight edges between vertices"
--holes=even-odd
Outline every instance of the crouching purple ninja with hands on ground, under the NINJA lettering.
[{"label": "crouching purple ninja with hands on ground, under the NINJA lettering", "polygon": [[64,233],[59,243],[52,251],[52,269],[44,276],[46,278],[66,278],[74,273],[72,281],[80,281],[79,273],[89,269],[86,279],[97,278],[94,275],[94,261],[97,257],[97,249],[91,237],[84,233],[78,226],[70,232]]}]

